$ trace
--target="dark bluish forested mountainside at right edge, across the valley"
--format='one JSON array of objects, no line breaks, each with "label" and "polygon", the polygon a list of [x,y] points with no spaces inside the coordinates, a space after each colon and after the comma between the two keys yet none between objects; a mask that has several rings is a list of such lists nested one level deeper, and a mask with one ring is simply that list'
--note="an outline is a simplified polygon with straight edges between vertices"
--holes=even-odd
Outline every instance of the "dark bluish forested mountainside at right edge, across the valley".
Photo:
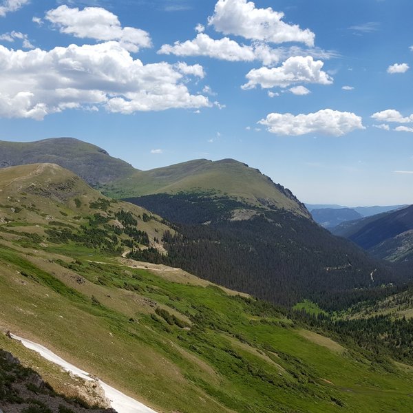
[{"label": "dark bluish forested mountainside at right edge, across the valley", "polygon": [[401,262],[413,259],[413,205],[357,222],[347,222],[332,230],[347,237],[372,255]]}]

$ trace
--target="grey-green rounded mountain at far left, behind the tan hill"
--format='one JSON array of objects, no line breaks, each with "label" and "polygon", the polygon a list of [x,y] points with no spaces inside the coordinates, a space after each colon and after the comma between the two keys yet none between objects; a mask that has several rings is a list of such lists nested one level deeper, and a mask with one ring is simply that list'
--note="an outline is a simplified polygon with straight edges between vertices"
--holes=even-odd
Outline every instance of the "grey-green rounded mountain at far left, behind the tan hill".
[{"label": "grey-green rounded mountain at far left, behind the tan hill", "polygon": [[34,163],[60,165],[92,185],[123,178],[135,171],[127,162],[109,156],[104,149],[74,138],[0,141],[0,168]]}]

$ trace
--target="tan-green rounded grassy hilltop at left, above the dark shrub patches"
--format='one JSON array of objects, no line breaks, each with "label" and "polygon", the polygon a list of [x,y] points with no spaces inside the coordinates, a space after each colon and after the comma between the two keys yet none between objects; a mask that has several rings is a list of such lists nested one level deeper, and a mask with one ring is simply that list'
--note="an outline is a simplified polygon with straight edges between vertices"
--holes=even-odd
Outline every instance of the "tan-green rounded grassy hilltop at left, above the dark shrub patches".
[{"label": "tan-green rounded grassy hilltop at left, above the dark shrub patches", "polygon": [[[34,164],[0,169],[0,224],[4,224],[3,229],[37,234],[45,238],[46,244],[45,229],[56,229],[63,223],[62,226],[69,225],[76,230],[87,225],[87,216],[94,213],[113,216],[123,210],[130,211],[136,218],[142,218],[144,213],[151,215],[145,209],[119,201],[109,202],[104,210],[94,207],[94,203],[105,200],[109,202],[58,165]],[[153,239],[160,239],[168,227],[158,218],[147,222],[141,218],[138,218],[139,229],[148,233],[151,246],[158,246]],[[112,220],[109,224],[117,223]],[[8,236],[18,237],[18,234]],[[66,247],[71,249],[70,245]],[[81,251],[78,246],[75,249]]]}]

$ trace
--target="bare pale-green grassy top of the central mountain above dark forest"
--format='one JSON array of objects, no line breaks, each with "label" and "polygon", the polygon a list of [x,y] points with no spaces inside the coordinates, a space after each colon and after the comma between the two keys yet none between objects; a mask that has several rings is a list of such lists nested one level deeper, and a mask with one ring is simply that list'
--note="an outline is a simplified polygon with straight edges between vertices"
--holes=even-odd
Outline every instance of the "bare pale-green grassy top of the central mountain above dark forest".
[{"label": "bare pale-green grassy top of the central mountain above dark forest", "polygon": [[231,159],[192,160],[151,171],[136,171],[132,176],[108,184],[104,190],[115,198],[182,191],[224,195],[253,205],[268,202],[277,208],[309,216],[305,207],[288,191],[257,169]]}]

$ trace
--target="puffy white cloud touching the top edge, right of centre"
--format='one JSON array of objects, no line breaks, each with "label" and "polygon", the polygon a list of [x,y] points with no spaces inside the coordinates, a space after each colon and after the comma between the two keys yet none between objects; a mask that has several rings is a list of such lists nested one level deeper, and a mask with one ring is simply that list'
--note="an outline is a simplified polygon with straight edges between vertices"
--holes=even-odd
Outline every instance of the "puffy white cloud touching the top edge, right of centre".
[{"label": "puffy white cloud touching the top edge, right of centre", "polygon": [[299,42],[314,45],[315,34],[282,21],[284,13],[272,8],[255,8],[253,1],[218,0],[209,25],[224,34],[272,43]]}]

